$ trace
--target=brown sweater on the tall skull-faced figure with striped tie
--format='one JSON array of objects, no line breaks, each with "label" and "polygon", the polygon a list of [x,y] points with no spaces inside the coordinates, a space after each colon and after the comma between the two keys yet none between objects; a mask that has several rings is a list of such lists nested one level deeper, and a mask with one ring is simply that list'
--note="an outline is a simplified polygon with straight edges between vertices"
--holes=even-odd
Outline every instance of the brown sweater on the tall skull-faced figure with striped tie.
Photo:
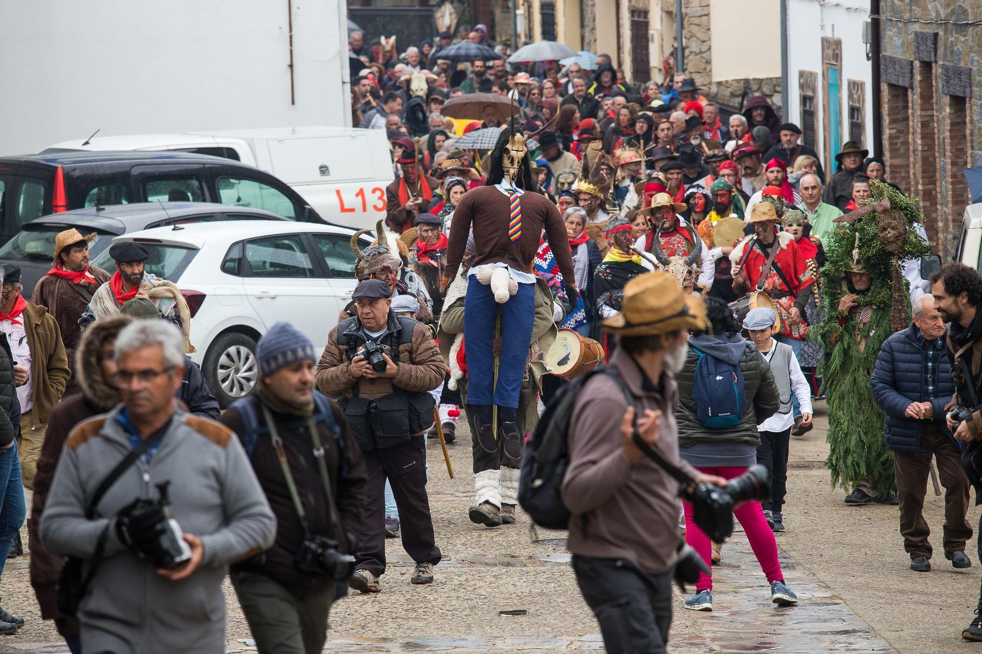
[{"label": "brown sweater on the tall skull-faced figure with striped tie", "polygon": [[572,284],[576,275],[573,272],[573,255],[567,245],[570,237],[559,209],[544,195],[532,191],[522,193],[519,202],[521,238],[513,242],[508,238],[511,223],[508,195],[496,187],[478,187],[464,193],[464,198],[454,211],[444,277],[454,279],[457,276],[471,225],[474,228],[474,245],[477,246],[473,265],[502,261],[516,270],[531,273],[532,259],[539,248],[539,235],[545,227],[549,243],[564,245],[553,247],[552,252],[563,278],[567,284]]}]

